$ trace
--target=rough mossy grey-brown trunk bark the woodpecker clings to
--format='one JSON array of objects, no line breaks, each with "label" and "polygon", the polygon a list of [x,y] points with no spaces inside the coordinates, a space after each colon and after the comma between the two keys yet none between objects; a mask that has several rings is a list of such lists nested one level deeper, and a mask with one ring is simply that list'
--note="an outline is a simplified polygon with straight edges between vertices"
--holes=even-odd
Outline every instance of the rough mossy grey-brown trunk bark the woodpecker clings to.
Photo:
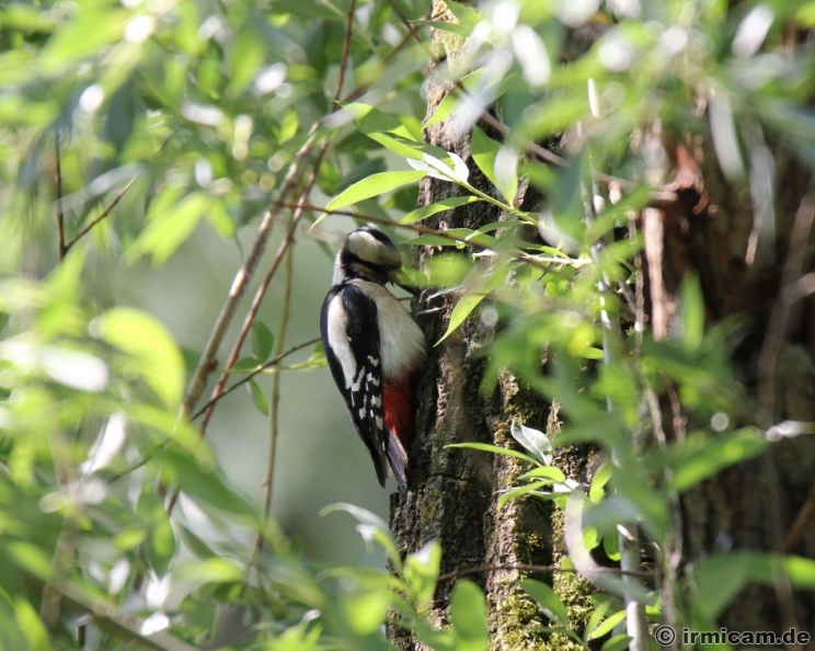
[{"label": "rough mossy grey-brown trunk bark the woodpecker clings to", "polygon": [[[441,2],[434,2],[437,20],[449,20]],[[455,67],[458,43],[455,36],[439,35],[437,45]],[[428,115],[450,87],[428,70],[426,84]],[[441,123],[427,129],[433,145],[458,153],[470,168],[470,183],[484,192],[492,186],[471,162],[470,138],[455,133]],[[521,189],[521,193],[524,190]],[[420,205],[429,204],[458,193],[451,183],[426,179],[420,192]],[[440,214],[437,228],[478,228],[496,221],[500,213],[483,203]],[[438,251],[426,247],[424,259]],[[429,293],[428,293],[429,294]],[[420,298],[418,309],[441,308],[420,318],[432,346],[444,334],[450,311],[457,300],[440,297],[432,305]],[[512,446],[509,426],[513,420],[546,430],[556,425],[550,404],[539,395],[519,386],[505,374],[491,396],[481,391],[483,351],[493,335],[493,327],[471,317],[456,333],[436,347],[431,347],[424,374],[418,378],[416,441],[411,450],[410,491],[393,495],[391,527],[403,553],[421,549],[429,540],[443,546],[441,573],[468,568],[553,563],[563,553],[553,527],[554,510],[537,500],[516,502],[498,510],[496,492],[513,484],[519,465],[512,458],[462,449],[445,449],[450,443],[481,442]],[[567,455],[569,453],[564,453]],[[585,455],[583,455],[585,457]],[[581,466],[576,461],[575,466]],[[558,641],[541,633],[538,627],[548,624],[538,606],[519,585],[520,574],[514,570],[484,571],[469,575],[485,591],[489,627],[493,649],[559,648]],[[550,576],[536,576],[550,580]],[[455,579],[443,581],[436,592],[431,613],[437,624],[447,621],[449,597]],[[578,579],[563,581],[564,602],[578,608],[587,593]],[[422,649],[409,633],[395,628],[390,639],[399,649]],[[569,648],[567,643],[562,644]]]}]

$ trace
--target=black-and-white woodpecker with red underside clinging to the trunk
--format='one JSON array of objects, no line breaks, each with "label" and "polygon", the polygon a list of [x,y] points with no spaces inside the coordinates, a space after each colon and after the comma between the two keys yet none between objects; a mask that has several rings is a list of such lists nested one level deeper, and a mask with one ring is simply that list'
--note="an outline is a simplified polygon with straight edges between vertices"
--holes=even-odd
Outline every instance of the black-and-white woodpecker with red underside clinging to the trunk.
[{"label": "black-and-white woodpecker with red underside clinging to the trunk", "polygon": [[425,339],[386,287],[400,266],[399,250],[378,228],[364,226],[349,233],[334,261],[320,333],[329,368],[380,486],[388,473],[387,458],[404,492],[413,437],[412,379],[424,359]]}]

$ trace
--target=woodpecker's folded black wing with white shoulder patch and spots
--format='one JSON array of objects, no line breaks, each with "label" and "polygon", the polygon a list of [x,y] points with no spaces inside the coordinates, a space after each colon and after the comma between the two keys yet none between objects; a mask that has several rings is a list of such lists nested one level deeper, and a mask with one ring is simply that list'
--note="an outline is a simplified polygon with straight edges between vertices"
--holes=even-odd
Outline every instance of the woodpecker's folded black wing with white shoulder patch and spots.
[{"label": "woodpecker's folded black wing with white shoulder patch and spots", "polygon": [[377,306],[355,285],[333,287],[323,302],[320,333],[334,381],[357,433],[368,446],[379,483],[388,476]]}]

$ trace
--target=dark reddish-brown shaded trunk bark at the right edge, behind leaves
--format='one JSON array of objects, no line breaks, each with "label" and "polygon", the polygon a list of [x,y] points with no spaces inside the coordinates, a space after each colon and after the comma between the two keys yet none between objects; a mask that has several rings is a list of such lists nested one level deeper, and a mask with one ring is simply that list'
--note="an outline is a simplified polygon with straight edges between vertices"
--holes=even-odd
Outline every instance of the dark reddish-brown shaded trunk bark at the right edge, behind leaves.
[{"label": "dark reddish-brown shaded trunk bark at the right edge, behind leaves", "polygon": [[[677,292],[688,274],[701,281],[709,323],[747,316],[735,351],[738,380],[747,389],[737,425],[761,430],[784,420],[815,421],[815,304],[790,283],[814,271],[810,251],[815,196],[803,164],[777,150],[776,233],[756,240],[754,212],[744,186],[721,173],[708,138],[677,145],[663,139],[675,162],[682,201],[643,215],[646,313],[656,338],[670,336]],[[671,391],[662,397],[666,434],[675,439],[695,426]],[[815,556],[813,505],[815,442],[811,436],[773,444],[765,457],[730,468],[686,493],[677,504],[667,575],[681,576],[695,561],[726,550]],[[795,524],[797,523],[797,524]],[[666,583],[665,599],[674,586]],[[670,602],[668,602],[670,603]],[[778,585],[743,591],[720,619],[732,630],[783,631],[815,627],[815,596]]]}]

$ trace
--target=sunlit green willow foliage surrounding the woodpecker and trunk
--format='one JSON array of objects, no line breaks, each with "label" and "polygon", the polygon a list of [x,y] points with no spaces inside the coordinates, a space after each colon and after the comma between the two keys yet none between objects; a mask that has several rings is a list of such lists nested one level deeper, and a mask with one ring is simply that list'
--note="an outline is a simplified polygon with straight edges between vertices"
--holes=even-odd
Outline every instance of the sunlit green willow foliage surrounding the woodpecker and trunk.
[{"label": "sunlit green willow foliage surrounding the woodpecker and trunk", "polygon": [[[381,519],[344,505],[394,573],[314,568],[225,477],[196,423],[179,418],[190,367],[207,361],[117,300],[92,263],[160,266],[202,224],[237,240],[266,210],[283,215],[301,199],[314,204],[302,224],[330,240],[323,220],[334,210],[422,226],[492,205],[501,219],[478,230],[425,228],[409,240],[446,252],[413,279],[457,290],[445,336],[477,318],[502,323],[484,391],[508,368],[560,404],[556,439],[516,423],[526,453],[470,447],[524,464],[502,504],[537,498],[576,510],[588,552],[602,546],[616,560],[617,526],[634,523],[662,548],[670,500],[766,452],[762,432],[737,424],[745,391],[727,361],[738,323],[705,327],[698,279],[685,281],[678,336],[655,341],[636,324],[604,332],[604,315],[627,307],[642,248],[638,237],[608,240],[650,201],[655,163],[630,145],[654,121],[710,135],[734,182],[767,171],[765,139],[815,164],[815,58],[810,45],[785,45],[788,25],[813,26],[815,3],[618,2],[605,20],[598,2],[448,4],[455,23],[432,21],[420,0],[0,8],[0,647],[71,648],[80,631],[87,649],[147,638],[169,650],[387,649],[389,610],[433,649],[487,644],[474,583],[457,582],[448,626],[424,617],[438,542],[402,559]],[[592,24],[596,42],[574,56],[574,28]],[[426,125],[472,133],[470,167],[423,141],[431,27],[460,46],[433,75],[462,90]],[[475,125],[496,101],[501,138]],[[521,156],[563,132],[574,140],[561,164]],[[478,186],[477,171],[494,192]],[[595,208],[599,173],[623,196]],[[455,192],[415,208],[426,176]],[[526,180],[544,204],[521,209]],[[521,226],[542,239],[525,240]],[[250,336],[234,375],[284,365],[269,327],[255,322]],[[546,347],[555,363],[544,372]],[[322,363],[315,351],[288,367]],[[692,413],[689,435],[635,447],[643,399],[666,380]],[[275,418],[274,400],[246,384],[256,409]],[[553,446],[577,442],[615,459],[585,490],[552,466]],[[686,623],[715,627],[736,589],[772,584],[778,563],[792,586],[815,585],[811,560],[722,553],[695,568]],[[550,586],[524,587],[577,647],[628,643],[613,585],[582,630]],[[658,617],[655,593],[642,590]]]}]

